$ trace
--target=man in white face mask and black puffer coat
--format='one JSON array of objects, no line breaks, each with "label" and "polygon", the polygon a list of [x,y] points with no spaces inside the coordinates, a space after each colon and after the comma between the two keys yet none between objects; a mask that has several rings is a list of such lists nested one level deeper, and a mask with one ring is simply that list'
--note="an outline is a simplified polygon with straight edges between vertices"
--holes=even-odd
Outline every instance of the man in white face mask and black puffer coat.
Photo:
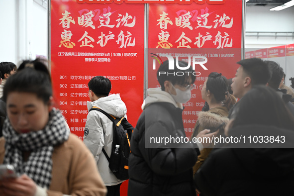
[{"label": "man in white face mask and black puffer coat", "polygon": [[[169,70],[169,62],[163,62],[157,71],[161,88],[147,90],[131,139],[128,196],[196,196],[192,167],[208,144],[185,142],[189,139],[185,140],[182,103],[190,100],[196,76],[192,67],[183,72],[174,63],[175,69]],[[178,64],[188,67],[184,61]],[[171,72],[185,74],[167,74]],[[217,134],[208,132],[196,138]]]}]

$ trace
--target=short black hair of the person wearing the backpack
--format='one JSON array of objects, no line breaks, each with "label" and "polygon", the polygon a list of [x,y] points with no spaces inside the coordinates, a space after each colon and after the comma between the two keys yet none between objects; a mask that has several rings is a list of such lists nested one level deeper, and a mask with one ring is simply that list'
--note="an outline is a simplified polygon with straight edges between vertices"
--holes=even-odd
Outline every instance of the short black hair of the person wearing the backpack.
[{"label": "short black hair of the person wearing the backpack", "polygon": [[96,76],[92,78],[88,87],[94,94],[98,97],[105,97],[109,95],[111,90],[111,82],[108,78],[104,78],[103,76]]}]

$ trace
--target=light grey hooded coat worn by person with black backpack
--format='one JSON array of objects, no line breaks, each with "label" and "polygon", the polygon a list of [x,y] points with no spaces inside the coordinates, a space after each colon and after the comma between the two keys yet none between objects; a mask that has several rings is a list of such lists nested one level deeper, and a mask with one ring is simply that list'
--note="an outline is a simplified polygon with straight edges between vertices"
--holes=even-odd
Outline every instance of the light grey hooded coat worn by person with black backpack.
[{"label": "light grey hooded coat worn by person with black backpack", "polygon": [[[96,106],[119,118],[126,115],[126,106],[117,94],[99,98],[93,102],[88,101],[87,106],[88,110]],[[104,148],[108,157],[110,157],[113,141],[112,125],[113,122],[100,111],[92,110],[87,115],[84,143],[95,157],[98,171],[105,186],[114,186],[123,182],[110,171],[107,158],[102,152],[102,148]]]}]

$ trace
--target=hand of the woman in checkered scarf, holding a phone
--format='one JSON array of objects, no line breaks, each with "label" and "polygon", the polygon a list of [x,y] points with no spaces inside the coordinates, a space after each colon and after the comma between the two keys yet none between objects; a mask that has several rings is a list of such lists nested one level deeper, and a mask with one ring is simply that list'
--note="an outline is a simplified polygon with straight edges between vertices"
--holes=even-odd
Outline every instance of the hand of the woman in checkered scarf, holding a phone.
[{"label": "hand of the woman in checkered scarf, holding a phone", "polygon": [[27,175],[0,181],[0,196],[34,196],[37,185]]}]

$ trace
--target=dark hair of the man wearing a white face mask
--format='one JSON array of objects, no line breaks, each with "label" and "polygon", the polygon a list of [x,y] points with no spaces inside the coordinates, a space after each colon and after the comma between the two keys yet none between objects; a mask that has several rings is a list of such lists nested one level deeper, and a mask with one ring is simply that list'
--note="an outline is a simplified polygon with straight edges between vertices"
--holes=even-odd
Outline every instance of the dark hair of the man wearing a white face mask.
[{"label": "dark hair of the man wearing a white face mask", "polygon": [[[174,63],[175,63],[175,65],[174,65],[175,69],[172,70],[171,74],[168,74],[171,72],[171,70],[169,70],[169,61],[168,60],[164,61],[157,70],[157,80],[158,80],[159,84],[161,85],[162,91],[165,91],[165,87],[164,87],[165,81],[170,81],[173,85],[187,86],[187,85],[190,85],[190,83],[188,82],[190,77],[192,79],[192,83],[194,83],[196,80],[196,76],[194,75],[194,70],[193,70],[192,66],[190,66],[189,69],[187,69],[187,70],[185,70],[185,72],[183,72],[183,70],[180,70],[176,66],[176,59],[174,59]],[[180,67],[188,67],[188,63],[185,61],[179,61],[179,66]],[[160,74],[160,72],[166,73],[166,74]],[[178,76],[176,74],[178,72],[183,72],[184,74]]]}]

